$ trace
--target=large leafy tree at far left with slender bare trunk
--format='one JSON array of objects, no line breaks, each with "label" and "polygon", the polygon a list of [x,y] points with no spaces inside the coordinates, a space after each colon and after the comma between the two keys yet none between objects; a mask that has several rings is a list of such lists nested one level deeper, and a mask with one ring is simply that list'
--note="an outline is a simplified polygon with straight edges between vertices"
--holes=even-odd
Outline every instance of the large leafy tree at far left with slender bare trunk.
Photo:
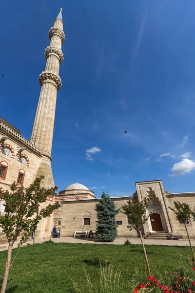
[{"label": "large leafy tree at far left with slender bare trunk", "polygon": [[45,190],[40,188],[40,181],[44,176],[36,178],[28,187],[18,186],[14,182],[10,190],[1,191],[0,198],[5,201],[6,213],[0,217],[0,227],[8,241],[7,261],[0,293],[5,293],[10,269],[12,249],[15,241],[20,237],[20,246],[26,242],[42,218],[45,218],[59,207],[59,204],[49,204],[39,210],[39,204],[46,202],[47,196],[54,196],[57,187]]}]

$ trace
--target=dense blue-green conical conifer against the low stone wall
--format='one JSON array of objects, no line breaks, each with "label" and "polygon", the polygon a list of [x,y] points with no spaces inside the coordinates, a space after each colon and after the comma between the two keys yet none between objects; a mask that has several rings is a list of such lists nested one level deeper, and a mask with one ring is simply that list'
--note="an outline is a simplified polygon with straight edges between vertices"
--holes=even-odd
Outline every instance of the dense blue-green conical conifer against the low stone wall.
[{"label": "dense blue-green conical conifer against the low stone wall", "polygon": [[97,237],[101,242],[112,242],[117,236],[116,215],[120,209],[108,194],[104,192],[96,204],[97,211]]}]

